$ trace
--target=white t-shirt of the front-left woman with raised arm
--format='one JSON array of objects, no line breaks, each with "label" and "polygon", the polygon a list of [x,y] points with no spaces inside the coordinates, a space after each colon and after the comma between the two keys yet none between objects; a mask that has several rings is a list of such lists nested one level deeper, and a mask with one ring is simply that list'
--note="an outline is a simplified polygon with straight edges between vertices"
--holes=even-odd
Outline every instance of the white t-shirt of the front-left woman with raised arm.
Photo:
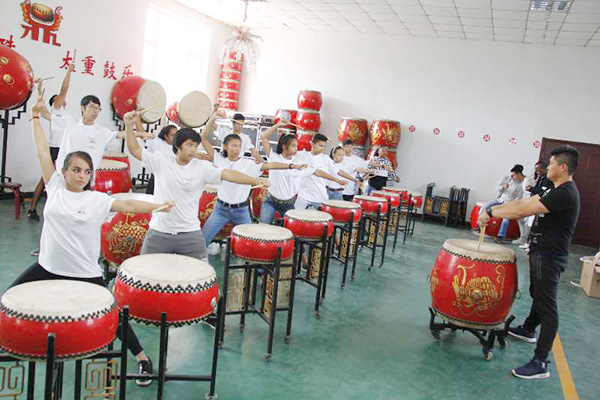
[{"label": "white t-shirt of the front-left woman with raised arm", "polygon": [[102,276],[100,227],[114,202],[106,193],[71,192],[55,172],[46,184],[39,263],[48,272],[76,278]]}]

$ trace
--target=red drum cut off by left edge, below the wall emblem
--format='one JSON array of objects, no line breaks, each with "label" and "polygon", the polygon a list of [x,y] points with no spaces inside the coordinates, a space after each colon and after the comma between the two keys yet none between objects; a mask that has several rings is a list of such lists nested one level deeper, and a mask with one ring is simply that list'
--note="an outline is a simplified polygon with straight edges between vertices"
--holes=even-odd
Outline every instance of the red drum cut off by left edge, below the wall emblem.
[{"label": "red drum cut off by left edge, below the wall emblem", "polygon": [[21,107],[33,91],[33,69],[19,53],[0,45],[0,110]]}]

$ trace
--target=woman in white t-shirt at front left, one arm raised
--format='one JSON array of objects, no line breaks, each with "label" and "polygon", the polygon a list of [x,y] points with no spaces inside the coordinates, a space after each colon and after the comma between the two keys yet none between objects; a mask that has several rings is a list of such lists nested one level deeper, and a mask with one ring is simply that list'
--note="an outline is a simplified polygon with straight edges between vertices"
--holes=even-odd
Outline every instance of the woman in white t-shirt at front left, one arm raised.
[{"label": "woman in white t-shirt at front left, one arm raised", "polygon": [[[102,268],[98,264],[102,223],[111,212],[151,213],[162,205],[138,200],[115,200],[106,193],[90,190],[94,166],[90,155],[83,151],[67,154],[62,171],[58,173],[40,124],[43,101],[40,96],[32,108],[34,142],[48,191],[40,257],[11,287],[55,279],[77,280],[106,287]],[[164,205],[168,206],[168,210],[172,207],[171,203]],[[133,331],[130,331],[129,350],[138,361],[139,372],[152,373],[152,363]],[[151,383],[144,379],[137,382],[141,386]]]}]

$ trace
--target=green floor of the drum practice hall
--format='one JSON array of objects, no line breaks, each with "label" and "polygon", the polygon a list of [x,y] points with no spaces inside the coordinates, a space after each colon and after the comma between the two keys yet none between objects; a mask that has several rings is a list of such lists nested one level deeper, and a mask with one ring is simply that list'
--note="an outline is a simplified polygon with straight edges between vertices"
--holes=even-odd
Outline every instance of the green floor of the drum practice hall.
[{"label": "green floor of the drum practice hall", "polygon": [[[15,221],[12,212],[12,201],[0,201],[2,290],[34,261],[29,252],[39,237],[39,223],[27,218]],[[237,319],[228,317],[219,358],[219,399],[562,399],[554,364],[548,380],[511,376],[513,367],[531,357],[531,345],[510,340],[507,349],[496,349],[494,359],[484,361],[481,346],[468,333],[443,333],[441,341],[433,340],[428,329],[427,275],[441,244],[450,237],[476,239],[466,230],[417,223],[414,237],[400,244],[396,253],[389,252],[383,268],[368,272],[367,254],[361,254],[356,282],[344,290],[339,288],[339,264],[332,262],[320,320],[312,312],[314,289],[299,283],[292,341],[283,341],[285,314],[281,314],[270,363],[263,361],[264,322],[250,316],[241,334]],[[600,300],[586,297],[569,283],[579,277],[578,258],[592,250],[574,246],[572,253],[559,289],[559,333],[580,398],[598,399]],[[523,253],[518,254],[523,297],[515,302],[513,313],[520,323],[530,299],[528,265]],[[220,258],[212,257],[211,263],[222,274]],[[135,330],[156,361],[157,330],[140,325]],[[169,371],[206,372],[211,343],[212,331],[204,325],[171,330]],[[128,398],[155,398],[155,390],[155,383],[147,388],[131,383]],[[170,382],[166,398],[202,399],[206,390],[202,383]]]}]

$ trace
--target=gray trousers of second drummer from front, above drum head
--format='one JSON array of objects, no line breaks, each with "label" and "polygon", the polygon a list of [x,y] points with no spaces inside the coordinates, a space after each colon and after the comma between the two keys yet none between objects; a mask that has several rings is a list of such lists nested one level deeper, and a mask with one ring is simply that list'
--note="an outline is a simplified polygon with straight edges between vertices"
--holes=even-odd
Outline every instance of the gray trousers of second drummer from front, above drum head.
[{"label": "gray trousers of second drummer from front, above drum head", "polygon": [[154,253],[179,254],[208,262],[206,243],[201,230],[171,235],[148,229],[142,245],[142,254]]}]

